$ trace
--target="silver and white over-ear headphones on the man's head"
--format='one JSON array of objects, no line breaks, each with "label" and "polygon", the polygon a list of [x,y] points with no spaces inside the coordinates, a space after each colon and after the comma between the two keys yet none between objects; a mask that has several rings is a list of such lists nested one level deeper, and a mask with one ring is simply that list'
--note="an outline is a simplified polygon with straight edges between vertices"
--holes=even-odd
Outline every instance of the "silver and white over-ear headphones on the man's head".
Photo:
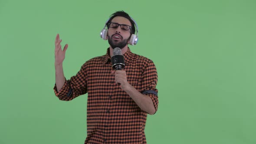
[{"label": "silver and white over-ear headphones on the man's head", "polygon": [[[131,18],[131,17],[130,17]],[[110,18],[109,18],[110,19]],[[109,20],[108,19],[108,20]],[[105,23],[105,26],[104,28],[102,29],[102,31],[100,32],[100,37],[104,40],[107,40],[108,39],[108,29],[106,29],[106,26],[108,24],[108,20],[106,21]],[[137,23],[135,22],[135,20],[133,20],[133,18],[131,18],[131,20],[133,21],[133,23],[135,23],[135,26],[136,26],[136,35],[135,34],[131,34],[131,38],[128,42],[128,44],[130,45],[136,45],[138,43],[138,25]]]}]

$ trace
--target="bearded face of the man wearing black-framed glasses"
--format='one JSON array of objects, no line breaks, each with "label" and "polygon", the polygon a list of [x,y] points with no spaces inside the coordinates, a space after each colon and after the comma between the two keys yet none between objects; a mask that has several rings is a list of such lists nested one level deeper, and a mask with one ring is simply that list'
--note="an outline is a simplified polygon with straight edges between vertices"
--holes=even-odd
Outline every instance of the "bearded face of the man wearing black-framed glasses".
[{"label": "bearded face of the man wearing black-framed glasses", "polygon": [[[125,17],[116,16],[112,19],[111,23],[115,27],[111,26],[108,28],[108,43],[112,49],[115,49],[116,47],[122,49],[128,45],[128,40],[131,36],[131,29],[125,30],[124,28],[127,26],[131,27],[131,22]],[[121,26],[117,26],[116,24],[127,26],[122,26],[123,29],[121,29]]]}]

